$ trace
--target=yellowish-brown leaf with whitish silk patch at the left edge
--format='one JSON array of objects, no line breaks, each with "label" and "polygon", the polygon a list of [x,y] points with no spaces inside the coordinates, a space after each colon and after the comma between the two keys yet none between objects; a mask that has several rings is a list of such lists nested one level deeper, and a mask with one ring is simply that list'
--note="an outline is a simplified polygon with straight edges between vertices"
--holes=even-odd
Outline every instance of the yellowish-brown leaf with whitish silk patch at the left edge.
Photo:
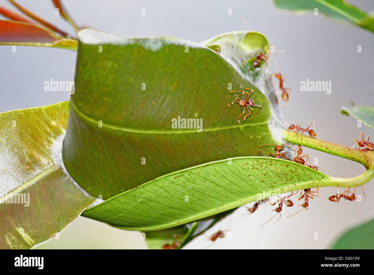
[{"label": "yellowish-brown leaf with whitish silk patch at the left edge", "polygon": [[62,102],[0,114],[0,248],[46,241],[95,201],[52,156],[68,109]]}]

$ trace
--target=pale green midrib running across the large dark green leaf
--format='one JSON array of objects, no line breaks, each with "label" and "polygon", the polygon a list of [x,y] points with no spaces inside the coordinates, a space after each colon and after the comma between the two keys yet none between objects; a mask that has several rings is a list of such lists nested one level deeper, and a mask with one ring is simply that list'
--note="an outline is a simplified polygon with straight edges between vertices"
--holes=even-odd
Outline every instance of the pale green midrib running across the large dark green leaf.
[{"label": "pale green midrib running across the large dark green leaf", "polygon": [[[76,107],[76,105],[73,103],[72,100],[70,100],[70,107],[73,108],[74,112],[82,117],[83,119],[93,123],[93,124],[98,124],[98,120],[93,119],[92,117],[89,117],[87,114],[82,113],[79,111]],[[257,125],[267,125],[269,124],[267,121],[265,122],[258,122],[258,123],[245,123],[242,125],[233,125],[233,126],[225,126],[225,127],[218,127],[218,128],[207,128],[207,129],[202,129],[201,132],[212,132],[212,131],[220,131],[224,129],[232,129],[232,128],[243,128],[246,126],[257,126]],[[126,128],[126,127],[120,127],[108,123],[102,122],[102,126],[105,128],[113,129],[116,131],[123,131],[123,132],[132,132],[132,133],[137,133],[137,134],[187,134],[187,133],[195,133],[197,132],[197,129],[184,129],[184,130],[179,130],[179,129],[173,129],[173,130],[146,130],[146,129],[134,129],[134,128]],[[201,133],[200,132],[200,133]]]}]

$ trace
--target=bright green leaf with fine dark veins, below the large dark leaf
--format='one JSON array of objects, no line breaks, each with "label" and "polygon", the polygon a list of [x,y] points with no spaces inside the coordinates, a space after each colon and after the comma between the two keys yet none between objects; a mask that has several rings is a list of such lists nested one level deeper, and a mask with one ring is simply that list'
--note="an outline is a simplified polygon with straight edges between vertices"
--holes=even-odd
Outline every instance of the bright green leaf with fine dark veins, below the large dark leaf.
[{"label": "bright green leaf with fine dark veins, below the large dark leaf", "polygon": [[165,175],[88,208],[82,215],[128,230],[159,230],[266,195],[329,186],[339,180],[283,159],[242,157],[231,162],[221,160]]}]

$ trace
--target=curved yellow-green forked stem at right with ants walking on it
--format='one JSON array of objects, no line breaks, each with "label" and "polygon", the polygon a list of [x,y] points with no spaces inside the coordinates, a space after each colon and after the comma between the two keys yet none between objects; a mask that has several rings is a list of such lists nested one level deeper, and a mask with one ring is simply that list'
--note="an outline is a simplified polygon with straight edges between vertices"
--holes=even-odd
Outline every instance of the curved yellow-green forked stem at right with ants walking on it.
[{"label": "curved yellow-green forked stem at right with ants walking on it", "polygon": [[[367,183],[371,178],[374,177],[374,152],[364,152],[360,149],[351,149],[348,146],[332,143],[325,140],[319,140],[318,138],[309,137],[295,132],[288,132],[283,130],[283,138],[289,143],[303,145],[312,149],[316,149],[325,153],[329,153],[342,158],[350,159],[351,161],[359,162],[367,169],[361,175],[353,178],[334,178],[331,177],[327,183],[329,186],[346,186],[356,187],[364,183]],[[323,145],[322,145],[323,144]],[[324,183],[324,186],[326,183]]]}]

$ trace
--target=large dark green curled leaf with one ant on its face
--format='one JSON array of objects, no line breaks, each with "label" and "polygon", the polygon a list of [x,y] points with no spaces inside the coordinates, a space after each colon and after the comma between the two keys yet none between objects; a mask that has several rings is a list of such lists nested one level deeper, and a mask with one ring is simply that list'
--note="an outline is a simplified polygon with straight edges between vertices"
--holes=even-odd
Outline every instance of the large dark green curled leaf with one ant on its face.
[{"label": "large dark green curled leaf with one ant on its face", "polygon": [[[267,155],[259,146],[276,142],[267,97],[237,64],[205,46],[86,29],[79,32],[78,48],[63,159],[94,196],[109,199],[202,163]],[[251,98],[262,106],[258,117],[254,108],[237,123],[241,109],[227,106],[235,98],[229,83],[254,89]],[[178,117],[202,120],[202,131],[173,129]]]}]

